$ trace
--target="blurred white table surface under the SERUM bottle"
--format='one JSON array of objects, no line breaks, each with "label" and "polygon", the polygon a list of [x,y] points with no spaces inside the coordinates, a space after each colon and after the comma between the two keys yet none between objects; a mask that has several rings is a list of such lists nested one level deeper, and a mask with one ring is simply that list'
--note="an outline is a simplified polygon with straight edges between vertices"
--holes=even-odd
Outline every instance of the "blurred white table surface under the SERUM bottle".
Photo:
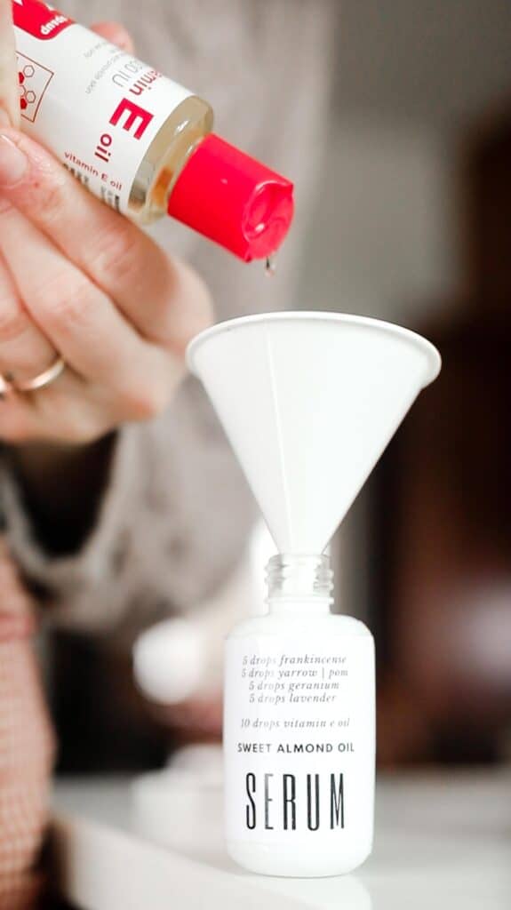
[{"label": "blurred white table surface under the SERUM bottle", "polygon": [[57,784],[63,895],[84,910],[511,908],[511,772],[380,778],[374,854],[337,878],[245,873],[223,850],[220,787],[200,803],[175,772]]}]

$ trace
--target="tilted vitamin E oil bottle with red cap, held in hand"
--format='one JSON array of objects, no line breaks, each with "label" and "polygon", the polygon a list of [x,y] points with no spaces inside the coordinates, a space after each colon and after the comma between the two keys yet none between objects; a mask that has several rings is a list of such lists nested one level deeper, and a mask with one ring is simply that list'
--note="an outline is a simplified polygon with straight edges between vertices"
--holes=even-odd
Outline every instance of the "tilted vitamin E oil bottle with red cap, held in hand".
[{"label": "tilted vitamin E oil bottle with red cap, held in hand", "polygon": [[202,98],[39,0],[13,0],[22,126],[107,205],[170,215],[250,261],[286,237],[293,187],[211,133]]}]

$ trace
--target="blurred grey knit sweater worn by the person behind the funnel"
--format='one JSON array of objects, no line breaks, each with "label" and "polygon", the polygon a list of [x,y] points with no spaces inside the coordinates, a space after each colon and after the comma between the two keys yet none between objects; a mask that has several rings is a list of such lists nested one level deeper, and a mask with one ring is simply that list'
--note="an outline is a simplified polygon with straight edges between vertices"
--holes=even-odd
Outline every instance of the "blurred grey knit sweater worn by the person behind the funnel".
[{"label": "blurred grey knit sweater worn by the person behind the funnel", "polygon": [[[153,228],[169,253],[205,278],[217,319],[292,307],[326,141],[334,5],[89,0],[59,6],[85,23],[122,21],[137,56],[212,104],[216,132],[294,179],[295,226],[273,280],[260,264],[245,266],[170,219]],[[311,300],[310,307],[319,303]],[[240,558],[255,506],[205,392],[191,377],[161,417],[121,428],[110,457],[95,521],[75,551],[58,556],[36,539],[5,460],[7,536],[25,577],[46,591],[55,622],[135,632],[215,592]]]}]

